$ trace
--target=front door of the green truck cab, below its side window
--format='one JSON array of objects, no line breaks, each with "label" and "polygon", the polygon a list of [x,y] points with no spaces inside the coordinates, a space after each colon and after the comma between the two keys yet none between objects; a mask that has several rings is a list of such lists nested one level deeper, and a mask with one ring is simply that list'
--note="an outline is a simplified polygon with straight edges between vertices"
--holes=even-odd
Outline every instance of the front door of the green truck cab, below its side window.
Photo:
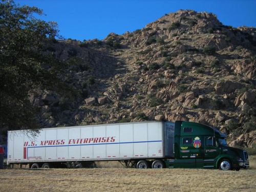
[{"label": "front door of the green truck cab, below its side window", "polygon": [[205,138],[205,159],[215,159],[220,154],[220,149],[215,137]]}]

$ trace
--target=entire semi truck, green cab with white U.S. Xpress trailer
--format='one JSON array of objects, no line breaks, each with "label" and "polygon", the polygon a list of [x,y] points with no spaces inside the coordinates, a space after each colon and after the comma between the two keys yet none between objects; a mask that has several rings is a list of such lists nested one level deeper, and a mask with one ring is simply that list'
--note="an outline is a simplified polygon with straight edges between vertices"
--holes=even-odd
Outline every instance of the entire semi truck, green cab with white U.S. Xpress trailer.
[{"label": "entire semi truck, green cab with white U.S. Xpress trailer", "polygon": [[145,121],[8,132],[7,164],[30,168],[83,167],[119,161],[136,168],[249,167],[245,150],[229,147],[226,135],[187,121]]}]

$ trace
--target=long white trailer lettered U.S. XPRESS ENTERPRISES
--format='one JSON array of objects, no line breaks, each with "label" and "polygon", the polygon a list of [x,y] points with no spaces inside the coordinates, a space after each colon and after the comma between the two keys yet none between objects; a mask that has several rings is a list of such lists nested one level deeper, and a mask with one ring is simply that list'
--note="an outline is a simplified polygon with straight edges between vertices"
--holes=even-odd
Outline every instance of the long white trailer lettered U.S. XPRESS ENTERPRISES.
[{"label": "long white trailer lettered U.S. XPRESS ENTERPRISES", "polygon": [[9,131],[7,164],[46,168],[117,160],[126,166],[164,166],[164,159],[174,157],[173,145],[174,123],[162,121],[54,127],[36,137]]}]

